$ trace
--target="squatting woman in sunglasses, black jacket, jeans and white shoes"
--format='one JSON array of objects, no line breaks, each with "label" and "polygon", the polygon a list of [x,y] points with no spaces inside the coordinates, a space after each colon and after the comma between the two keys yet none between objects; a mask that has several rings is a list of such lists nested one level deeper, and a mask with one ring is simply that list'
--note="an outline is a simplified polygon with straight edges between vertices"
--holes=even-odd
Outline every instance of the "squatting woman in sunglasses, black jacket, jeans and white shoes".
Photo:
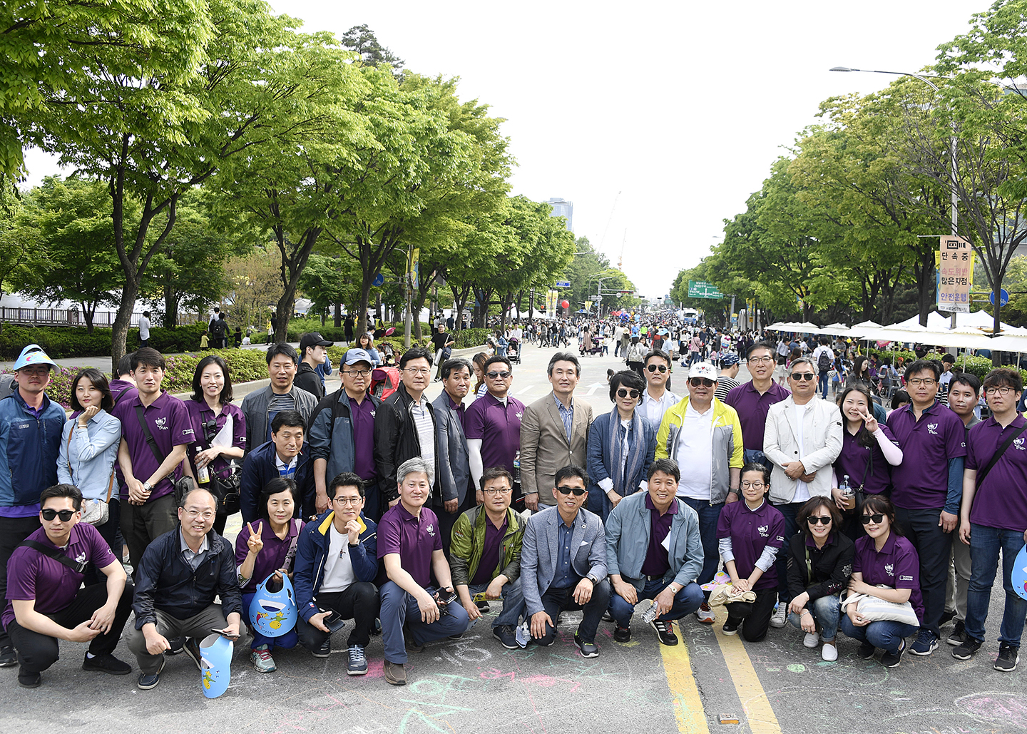
[{"label": "squatting woman in sunglasses, black jacket, jeans and white shoes", "polygon": [[799,532],[789,541],[788,621],[806,633],[802,644],[821,657],[838,659],[835,634],[841,616],[838,594],[852,571],[852,541],[839,532],[841,512],[827,497],[813,497],[799,509]]}]

